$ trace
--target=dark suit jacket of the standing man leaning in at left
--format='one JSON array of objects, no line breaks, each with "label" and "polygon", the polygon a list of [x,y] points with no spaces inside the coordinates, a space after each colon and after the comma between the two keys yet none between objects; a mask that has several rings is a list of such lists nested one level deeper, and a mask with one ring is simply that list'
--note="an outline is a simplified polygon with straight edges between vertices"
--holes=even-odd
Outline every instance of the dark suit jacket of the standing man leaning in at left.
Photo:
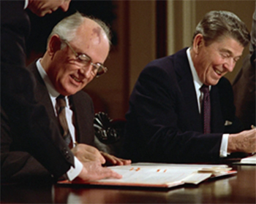
[{"label": "dark suit jacket of the standing man leaning in at left", "polygon": [[[30,22],[23,7],[24,1],[1,1],[1,137],[12,132],[15,142],[23,144],[20,151],[29,152],[59,177],[74,165],[74,157],[61,141],[59,127],[34,97],[34,78],[25,63]],[[8,157],[1,149],[1,181]],[[12,165],[5,172],[18,168]]]}]

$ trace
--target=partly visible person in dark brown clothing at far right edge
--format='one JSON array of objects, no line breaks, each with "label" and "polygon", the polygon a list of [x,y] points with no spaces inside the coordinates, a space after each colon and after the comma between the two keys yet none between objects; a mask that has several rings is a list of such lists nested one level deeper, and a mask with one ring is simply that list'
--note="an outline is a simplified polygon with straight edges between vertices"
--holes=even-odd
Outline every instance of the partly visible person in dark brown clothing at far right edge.
[{"label": "partly visible person in dark brown clothing at far right edge", "polygon": [[249,55],[246,55],[241,70],[233,81],[234,103],[236,115],[249,130],[256,125],[255,115],[255,68],[256,68],[256,9],[252,16],[251,42],[249,44]]}]

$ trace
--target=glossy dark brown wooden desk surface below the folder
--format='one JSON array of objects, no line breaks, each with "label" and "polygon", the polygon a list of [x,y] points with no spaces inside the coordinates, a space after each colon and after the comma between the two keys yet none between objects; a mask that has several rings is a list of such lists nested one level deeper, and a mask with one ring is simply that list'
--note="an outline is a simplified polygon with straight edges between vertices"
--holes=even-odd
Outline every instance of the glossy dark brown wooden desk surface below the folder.
[{"label": "glossy dark brown wooden desk surface below the folder", "polygon": [[1,203],[256,203],[256,166],[233,168],[236,176],[168,190],[1,185]]}]

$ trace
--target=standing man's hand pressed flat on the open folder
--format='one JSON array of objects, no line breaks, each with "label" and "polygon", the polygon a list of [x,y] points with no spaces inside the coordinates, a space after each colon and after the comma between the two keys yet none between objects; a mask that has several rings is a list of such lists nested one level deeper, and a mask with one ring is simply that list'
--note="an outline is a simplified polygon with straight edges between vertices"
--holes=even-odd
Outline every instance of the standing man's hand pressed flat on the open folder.
[{"label": "standing man's hand pressed flat on the open folder", "polygon": [[74,181],[95,181],[102,178],[121,178],[115,171],[102,167],[100,162],[83,162],[83,169]]}]

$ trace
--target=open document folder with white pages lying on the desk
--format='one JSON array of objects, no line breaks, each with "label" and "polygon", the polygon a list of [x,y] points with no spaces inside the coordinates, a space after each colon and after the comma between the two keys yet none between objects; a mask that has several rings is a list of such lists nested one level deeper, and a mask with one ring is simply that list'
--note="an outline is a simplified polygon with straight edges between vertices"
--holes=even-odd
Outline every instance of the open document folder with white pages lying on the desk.
[{"label": "open document folder with white pages lying on the desk", "polygon": [[59,184],[91,184],[105,186],[162,187],[199,184],[207,178],[235,174],[227,165],[172,165],[135,163],[108,167],[121,174],[121,179],[101,179],[91,182],[59,181]]}]

